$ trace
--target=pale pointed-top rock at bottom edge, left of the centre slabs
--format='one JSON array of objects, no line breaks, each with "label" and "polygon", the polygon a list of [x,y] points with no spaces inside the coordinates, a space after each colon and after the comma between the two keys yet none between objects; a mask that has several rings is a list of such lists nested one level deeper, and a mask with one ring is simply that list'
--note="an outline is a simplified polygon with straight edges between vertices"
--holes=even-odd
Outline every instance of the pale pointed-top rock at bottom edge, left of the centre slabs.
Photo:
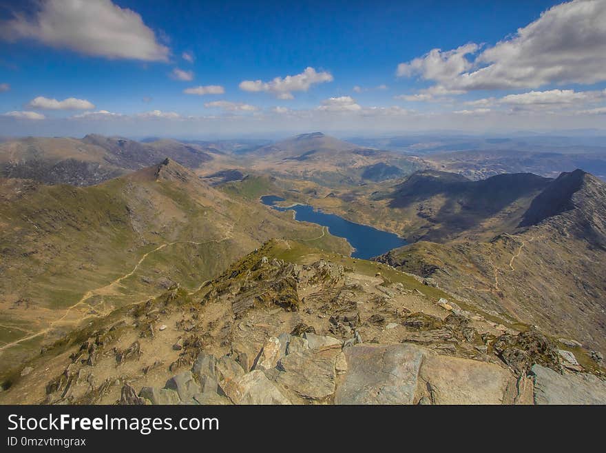
[{"label": "pale pointed-top rock at bottom edge, left of the centre slabs", "polygon": [[221,381],[220,387],[234,404],[291,404],[260,370],[253,370],[237,379]]}]

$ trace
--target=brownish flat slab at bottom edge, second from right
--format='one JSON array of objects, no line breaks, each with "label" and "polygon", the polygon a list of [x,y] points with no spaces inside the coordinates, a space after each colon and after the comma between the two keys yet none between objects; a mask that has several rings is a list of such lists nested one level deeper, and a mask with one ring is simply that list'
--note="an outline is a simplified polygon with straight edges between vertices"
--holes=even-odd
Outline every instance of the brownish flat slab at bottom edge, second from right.
[{"label": "brownish flat slab at bottom edge, second from right", "polygon": [[514,376],[494,363],[427,356],[419,379],[433,404],[501,404]]}]

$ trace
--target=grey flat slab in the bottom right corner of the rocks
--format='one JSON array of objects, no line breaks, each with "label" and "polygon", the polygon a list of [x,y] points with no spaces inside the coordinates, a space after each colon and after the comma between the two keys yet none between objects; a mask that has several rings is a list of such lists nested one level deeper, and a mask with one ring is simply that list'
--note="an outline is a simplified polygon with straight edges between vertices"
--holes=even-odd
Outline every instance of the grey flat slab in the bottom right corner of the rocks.
[{"label": "grey flat slab in the bottom right corner of the rocks", "polygon": [[606,404],[606,382],[593,374],[559,374],[532,365],[534,404]]}]

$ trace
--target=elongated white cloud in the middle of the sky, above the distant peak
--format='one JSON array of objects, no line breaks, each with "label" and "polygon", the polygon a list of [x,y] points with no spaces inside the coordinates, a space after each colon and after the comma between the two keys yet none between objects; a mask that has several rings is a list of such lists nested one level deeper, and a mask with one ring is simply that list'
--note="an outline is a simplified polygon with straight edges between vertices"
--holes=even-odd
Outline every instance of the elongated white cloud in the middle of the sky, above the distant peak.
[{"label": "elongated white cloud in the middle of the sky, above the distant peak", "polygon": [[272,81],[244,80],[240,82],[240,90],[249,92],[269,92],[278,99],[293,99],[293,91],[307,91],[315,83],[333,81],[330,72],[316,72],[314,68],[305,68],[301,74],[275,77]]}]

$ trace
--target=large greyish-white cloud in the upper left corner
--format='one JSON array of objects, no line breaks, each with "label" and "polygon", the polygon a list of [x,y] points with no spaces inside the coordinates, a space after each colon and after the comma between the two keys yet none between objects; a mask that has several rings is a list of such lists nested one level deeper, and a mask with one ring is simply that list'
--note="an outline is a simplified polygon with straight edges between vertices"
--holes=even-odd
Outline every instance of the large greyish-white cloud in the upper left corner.
[{"label": "large greyish-white cloud in the upper left corner", "polygon": [[8,41],[35,39],[54,48],[109,59],[168,61],[169,49],[140,15],[110,0],[45,0],[33,17],[14,14],[0,23]]}]

